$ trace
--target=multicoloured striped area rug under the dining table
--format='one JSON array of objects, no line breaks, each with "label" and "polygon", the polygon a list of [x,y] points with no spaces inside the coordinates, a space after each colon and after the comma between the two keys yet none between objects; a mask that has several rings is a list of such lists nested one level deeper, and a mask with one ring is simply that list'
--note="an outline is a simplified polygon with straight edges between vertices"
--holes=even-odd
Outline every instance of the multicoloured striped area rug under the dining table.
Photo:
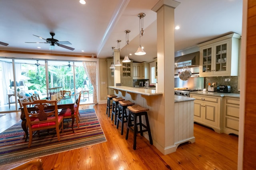
[{"label": "multicoloured striped area rug under the dining table", "polygon": [[40,131],[40,135],[33,136],[32,145],[28,148],[29,139],[27,142],[23,139],[21,121],[0,133],[0,166],[106,142],[95,110],[79,110],[79,113],[80,127],[77,128],[75,121],[73,133],[71,119],[65,119],[60,142],[56,132]]}]

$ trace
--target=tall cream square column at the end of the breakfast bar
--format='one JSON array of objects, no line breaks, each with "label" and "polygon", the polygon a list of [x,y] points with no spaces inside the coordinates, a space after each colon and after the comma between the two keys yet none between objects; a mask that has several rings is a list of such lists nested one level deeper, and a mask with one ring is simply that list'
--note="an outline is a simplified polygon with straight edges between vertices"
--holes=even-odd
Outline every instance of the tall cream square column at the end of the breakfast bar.
[{"label": "tall cream square column at the end of the breakfast bar", "polygon": [[168,154],[176,151],[174,145],[174,9],[180,4],[174,0],[160,0],[152,10],[157,12],[157,64],[158,92],[162,100],[158,113],[162,117],[162,131],[159,131],[164,148]]}]

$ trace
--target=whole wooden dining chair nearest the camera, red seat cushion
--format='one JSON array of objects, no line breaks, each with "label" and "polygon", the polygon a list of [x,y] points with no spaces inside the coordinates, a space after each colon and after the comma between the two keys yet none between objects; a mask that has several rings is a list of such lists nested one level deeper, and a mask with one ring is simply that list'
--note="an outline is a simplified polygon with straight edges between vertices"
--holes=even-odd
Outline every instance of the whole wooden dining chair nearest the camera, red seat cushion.
[{"label": "whole wooden dining chair nearest the camera, red seat cushion", "polygon": [[[28,112],[28,107],[30,105],[38,109],[36,113]],[[49,110],[48,106],[50,105],[54,106],[54,109]],[[56,100],[35,100],[34,102],[24,103],[23,107],[29,129],[28,148],[30,148],[32,143],[33,131],[55,128],[58,141],[60,141],[60,131],[63,132],[63,116],[58,115]],[[31,118],[35,118],[34,121],[31,121]]]}]

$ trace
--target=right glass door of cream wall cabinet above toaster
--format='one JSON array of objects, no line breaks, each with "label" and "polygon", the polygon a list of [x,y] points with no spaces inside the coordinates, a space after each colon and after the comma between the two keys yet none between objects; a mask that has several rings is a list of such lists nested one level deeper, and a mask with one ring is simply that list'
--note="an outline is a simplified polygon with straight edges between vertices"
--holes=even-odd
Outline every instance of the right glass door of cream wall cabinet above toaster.
[{"label": "right glass door of cream wall cabinet above toaster", "polygon": [[216,63],[215,71],[226,71],[226,60],[227,60],[227,43],[217,45],[216,49]]}]

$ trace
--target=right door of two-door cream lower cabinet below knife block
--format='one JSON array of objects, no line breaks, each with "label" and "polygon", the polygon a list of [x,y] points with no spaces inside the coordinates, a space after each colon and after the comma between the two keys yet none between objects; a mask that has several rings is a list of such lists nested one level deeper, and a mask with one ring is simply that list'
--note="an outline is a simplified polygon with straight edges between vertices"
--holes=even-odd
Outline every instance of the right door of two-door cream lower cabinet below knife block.
[{"label": "right door of two-door cream lower cabinet below knife block", "polygon": [[218,104],[204,102],[203,121],[210,125],[218,126]]}]

